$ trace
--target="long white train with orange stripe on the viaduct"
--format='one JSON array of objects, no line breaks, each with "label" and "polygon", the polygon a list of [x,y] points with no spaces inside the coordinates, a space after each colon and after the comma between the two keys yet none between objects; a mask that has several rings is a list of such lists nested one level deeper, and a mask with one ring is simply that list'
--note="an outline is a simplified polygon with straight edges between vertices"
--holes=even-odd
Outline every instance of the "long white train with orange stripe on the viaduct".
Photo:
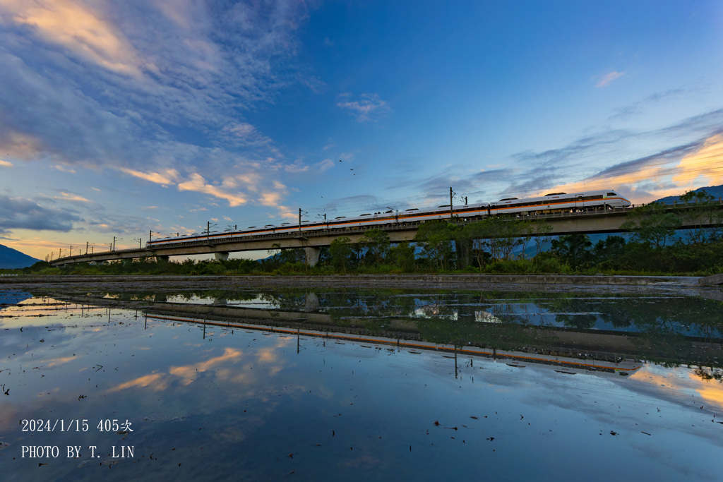
[{"label": "long white train with orange stripe on the viaduct", "polygon": [[541,197],[528,197],[518,199],[510,197],[497,202],[482,202],[475,205],[460,205],[450,210],[450,205],[442,205],[435,209],[420,210],[411,208],[406,211],[388,210],[384,212],[369,212],[354,218],[339,216],[333,220],[301,221],[298,223],[281,223],[280,225],[265,225],[264,227],[249,226],[241,231],[226,230],[223,232],[194,233],[189,236],[176,238],[160,238],[150,241],[146,246],[163,246],[165,244],[183,243],[187,241],[207,241],[210,239],[240,238],[243,236],[258,236],[262,234],[290,233],[293,231],[318,231],[333,228],[359,228],[377,225],[404,225],[406,223],[419,223],[432,219],[445,219],[453,215],[455,218],[486,218],[495,215],[532,215],[547,212],[571,212],[604,210],[613,207],[628,207],[630,201],[612,190],[578,192],[565,194],[557,192]]}]

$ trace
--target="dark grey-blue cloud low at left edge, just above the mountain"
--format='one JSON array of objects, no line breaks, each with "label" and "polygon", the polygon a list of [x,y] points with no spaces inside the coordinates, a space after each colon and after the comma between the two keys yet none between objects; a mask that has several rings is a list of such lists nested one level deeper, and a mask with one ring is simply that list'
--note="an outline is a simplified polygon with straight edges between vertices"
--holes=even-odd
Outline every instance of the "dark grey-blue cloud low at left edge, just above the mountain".
[{"label": "dark grey-blue cloud low at left edge, just above the mountain", "polygon": [[11,229],[71,231],[77,215],[38,205],[31,199],[0,195],[0,233]]}]

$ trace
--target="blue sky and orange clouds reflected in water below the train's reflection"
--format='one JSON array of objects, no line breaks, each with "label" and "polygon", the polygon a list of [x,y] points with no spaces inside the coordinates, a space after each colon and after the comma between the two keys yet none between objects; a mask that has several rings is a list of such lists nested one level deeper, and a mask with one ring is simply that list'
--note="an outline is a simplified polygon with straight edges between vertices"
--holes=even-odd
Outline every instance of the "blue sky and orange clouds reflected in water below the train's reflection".
[{"label": "blue sky and orange clouds reflected in water below the train's reflection", "polygon": [[[121,310],[110,321],[81,319],[80,309],[45,319],[0,337],[7,481],[37,480],[38,460],[18,457],[30,443],[103,449],[98,460],[49,461],[43,480],[98,478],[96,467],[104,480],[719,474],[723,426],[711,419],[723,421],[723,385],[688,369],[568,375],[460,356],[455,378],[454,359],[435,352],[146,324]],[[128,419],[134,432],[29,434],[22,418]],[[109,465],[109,447],[120,444],[133,445],[135,459]]]}]

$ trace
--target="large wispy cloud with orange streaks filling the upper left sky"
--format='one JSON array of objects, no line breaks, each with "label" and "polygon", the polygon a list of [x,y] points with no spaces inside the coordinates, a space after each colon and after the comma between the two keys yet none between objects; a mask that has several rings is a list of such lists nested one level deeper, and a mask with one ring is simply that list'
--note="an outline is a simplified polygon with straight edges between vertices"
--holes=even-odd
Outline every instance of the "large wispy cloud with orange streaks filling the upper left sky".
[{"label": "large wispy cloud with orange streaks filling the upper left sky", "polygon": [[290,0],[0,0],[0,148],[239,205],[228,179],[262,189],[308,169],[238,120],[281,89],[318,85],[295,60],[306,18]]}]

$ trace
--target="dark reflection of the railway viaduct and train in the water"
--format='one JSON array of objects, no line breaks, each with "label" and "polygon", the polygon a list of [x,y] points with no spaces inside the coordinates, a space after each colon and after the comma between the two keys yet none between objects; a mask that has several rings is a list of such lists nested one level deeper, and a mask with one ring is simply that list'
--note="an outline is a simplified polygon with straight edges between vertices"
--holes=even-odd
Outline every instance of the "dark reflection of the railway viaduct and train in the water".
[{"label": "dark reflection of the railway viaduct and train in the water", "polygon": [[[470,332],[468,335],[455,332],[455,327],[443,319],[435,321],[434,317],[384,317],[386,319],[385,328],[378,330],[373,327],[374,322],[370,322],[376,317],[354,317],[353,315],[338,317],[319,311],[319,300],[313,292],[306,293],[303,309],[299,306],[299,309],[294,310],[232,306],[227,305],[226,300],[219,299],[215,299],[213,304],[173,303],[166,301],[165,296],[162,295],[156,296],[156,301],[69,298],[63,295],[54,297],[95,306],[113,305],[121,309],[142,309],[148,318],[158,317],[176,322],[203,324],[204,328],[206,324],[210,324],[241,329],[249,328],[249,324],[254,324],[260,330],[284,332],[285,330],[280,329],[291,329],[294,333],[301,330],[304,332],[303,335],[309,335],[310,331],[313,331],[325,334],[326,337],[343,337],[357,343],[375,341],[395,345],[414,345],[415,348],[434,350],[447,349],[445,346],[455,345],[457,352],[466,354],[474,354],[475,347],[493,349],[500,355],[503,354],[500,350],[522,350],[527,353],[527,356],[515,356],[514,358],[528,358],[526,361],[532,363],[544,362],[534,360],[534,357],[531,358],[531,354],[551,358],[551,361],[557,357],[577,358],[578,364],[589,364],[592,360],[617,363],[622,359],[652,359],[705,366],[711,366],[713,363],[714,366],[719,366],[717,356],[723,348],[723,339],[720,338],[683,335],[668,338],[655,333],[546,327],[502,320],[479,322],[475,313],[477,308],[473,306],[455,307],[458,321],[466,322],[470,327],[474,327],[474,333]],[[436,340],[437,343],[434,343],[433,340],[427,339],[425,332],[428,330],[425,331],[422,327],[429,325],[430,322],[442,330],[434,330],[435,336],[446,338],[445,340]],[[370,331],[368,327],[371,327],[372,330]],[[449,330],[446,335],[445,330]],[[370,335],[376,340],[363,339]],[[382,337],[387,341],[380,340]],[[401,340],[406,340],[407,343],[401,343]],[[440,343],[442,344],[440,345]],[[482,352],[476,354],[485,355]]]}]

